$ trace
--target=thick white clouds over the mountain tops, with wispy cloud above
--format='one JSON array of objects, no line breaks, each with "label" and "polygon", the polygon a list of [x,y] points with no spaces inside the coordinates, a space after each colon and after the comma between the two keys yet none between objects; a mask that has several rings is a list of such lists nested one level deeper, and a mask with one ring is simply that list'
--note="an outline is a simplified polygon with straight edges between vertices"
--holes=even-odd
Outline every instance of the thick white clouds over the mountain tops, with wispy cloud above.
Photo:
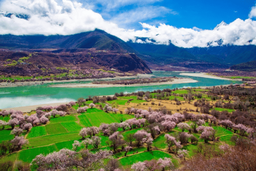
[{"label": "thick white clouds over the mountain tops, with wispy cloud above", "polygon": [[[138,0],[130,0],[135,2]],[[153,2],[154,0],[151,0]],[[114,1],[113,1],[114,2]],[[120,2],[116,0],[115,2]],[[125,1],[123,3],[126,3]],[[128,2],[127,2],[128,3]],[[163,7],[158,7],[164,9]],[[147,18],[162,15],[152,7],[147,12],[144,8],[141,13],[133,10],[117,17],[117,21],[129,23],[131,20],[145,21]],[[206,47],[208,43],[217,46],[217,41],[222,39],[223,45],[256,45],[256,21],[252,19],[236,19],[232,23],[220,23],[213,30],[202,30],[196,27],[177,28],[171,25],[159,24],[159,26],[141,23],[142,30],[123,29],[113,21],[106,21],[102,16],[92,10],[84,8],[83,4],[62,0],[61,5],[55,0],[11,0],[2,2],[0,10],[10,13],[28,14],[30,19],[25,20],[12,15],[11,18],[0,15],[0,34],[14,35],[70,35],[85,31],[93,31],[95,28],[102,29],[115,35],[124,41],[135,37],[149,37],[157,44],[169,44],[171,41],[179,47]],[[172,12],[165,9],[165,14]],[[250,15],[254,15],[254,8]],[[142,15],[145,13],[145,15]],[[142,19],[139,19],[139,15]],[[150,17],[148,17],[150,16]],[[129,19],[126,19],[129,17]],[[122,21],[122,18],[124,21]],[[147,40],[147,43],[151,41]]]}]

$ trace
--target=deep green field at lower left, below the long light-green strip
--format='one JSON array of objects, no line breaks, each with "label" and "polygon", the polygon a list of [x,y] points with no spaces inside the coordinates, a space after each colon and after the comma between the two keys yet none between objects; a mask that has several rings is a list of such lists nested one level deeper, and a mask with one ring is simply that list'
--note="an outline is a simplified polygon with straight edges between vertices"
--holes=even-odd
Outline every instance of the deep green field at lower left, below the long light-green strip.
[{"label": "deep green field at lower left, below the long light-green strip", "polygon": [[20,152],[19,159],[30,163],[37,155],[39,154],[46,155],[54,151],[57,151],[57,148],[55,145],[38,147],[38,148],[29,148],[26,150],[22,150]]}]

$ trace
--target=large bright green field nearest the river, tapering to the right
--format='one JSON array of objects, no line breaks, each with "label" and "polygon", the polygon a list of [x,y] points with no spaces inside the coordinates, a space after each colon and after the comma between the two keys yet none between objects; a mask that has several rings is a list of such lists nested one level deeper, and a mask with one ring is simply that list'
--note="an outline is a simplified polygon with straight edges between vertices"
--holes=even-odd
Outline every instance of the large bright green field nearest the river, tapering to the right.
[{"label": "large bright green field nearest the river, tapering to the right", "polygon": [[85,127],[99,126],[101,123],[110,124],[112,122],[120,122],[120,118],[123,118],[123,120],[127,120],[133,117],[133,115],[112,114],[105,112],[85,113],[78,116],[80,120],[79,124]]}]

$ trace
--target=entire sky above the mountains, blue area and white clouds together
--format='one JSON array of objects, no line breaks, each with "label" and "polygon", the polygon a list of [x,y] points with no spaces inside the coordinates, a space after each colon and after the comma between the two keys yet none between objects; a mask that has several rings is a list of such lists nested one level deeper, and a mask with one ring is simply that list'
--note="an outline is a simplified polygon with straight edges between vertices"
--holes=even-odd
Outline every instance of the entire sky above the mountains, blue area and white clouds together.
[{"label": "entire sky above the mountains, blue area and white clouds together", "polygon": [[[71,35],[97,28],[137,43],[171,42],[190,48],[219,46],[221,40],[222,45],[256,45],[255,4],[255,0],[0,0],[0,34]],[[14,15],[5,15],[9,13]],[[148,39],[142,42],[136,37]]]}]

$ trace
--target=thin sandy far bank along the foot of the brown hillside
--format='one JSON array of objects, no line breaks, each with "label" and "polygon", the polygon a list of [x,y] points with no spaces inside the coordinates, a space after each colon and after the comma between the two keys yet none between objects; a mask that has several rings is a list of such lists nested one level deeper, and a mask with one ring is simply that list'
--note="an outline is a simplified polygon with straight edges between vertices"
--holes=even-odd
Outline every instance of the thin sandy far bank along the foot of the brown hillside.
[{"label": "thin sandy far bank along the foot of the brown hillside", "polygon": [[114,77],[114,78],[89,78],[89,79],[82,79],[82,80],[54,80],[54,81],[36,81],[36,82],[16,82],[16,83],[7,83],[2,82],[0,83],[0,87],[19,87],[19,86],[35,86],[40,84],[47,84],[47,83],[68,83],[68,82],[81,82],[81,81],[95,81],[95,80],[120,80],[120,79],[131,79],[131,78],[150,78],[153,75],[151,74],[137,74],[137,76],[123,76],[123,77]]}]

